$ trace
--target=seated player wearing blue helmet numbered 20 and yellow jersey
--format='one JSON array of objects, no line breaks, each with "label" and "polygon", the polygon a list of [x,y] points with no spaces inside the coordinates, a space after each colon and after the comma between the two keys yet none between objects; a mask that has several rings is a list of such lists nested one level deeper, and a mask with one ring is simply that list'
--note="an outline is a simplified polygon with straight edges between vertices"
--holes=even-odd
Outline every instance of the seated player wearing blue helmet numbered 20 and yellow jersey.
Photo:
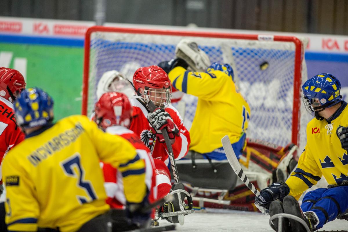
[{"label": "seated player wearing blue helmet numbered 20 and yellow jersey", "polygon": [[[341,84],[329,73],[307,80],[303,103],[315,118],[307,125],[307,145],[298,167],[287,181],[263,189],[255,205],[269,214],[287,213],[304,220],[311,231],[348,213],[348,107],[341,101]],[[298,199],[324,176],[330,184],[308,192],[299,206]],[[278,228],[277,219],[273,221]],[[294,219],[284,219],[284,231],[306,231]]]}]

